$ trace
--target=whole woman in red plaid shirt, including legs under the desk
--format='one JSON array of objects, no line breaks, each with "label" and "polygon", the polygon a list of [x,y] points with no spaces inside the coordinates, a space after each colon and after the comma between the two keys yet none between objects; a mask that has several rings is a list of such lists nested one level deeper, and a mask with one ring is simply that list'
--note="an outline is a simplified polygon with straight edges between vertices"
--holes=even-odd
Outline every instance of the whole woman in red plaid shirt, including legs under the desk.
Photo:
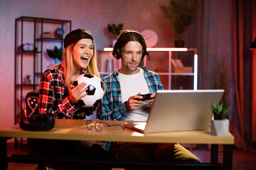
[{"label": "whole woman in red plaid shirt, including legs under the desk", "polygon": [[[73,80],[85,72],[100,78],[92,35],[86,30],[73,30],[64,39],[63,62],[43,73],[39,84],[39,112],[53,113],[55,118],[84,119],[94,108],[78,105],[86,84],[73,86]],[[43,140],[41,154],[57,157],[108,157],[105,150],[90,141]],[[54,167],[63,169],[63,167]]]}]

